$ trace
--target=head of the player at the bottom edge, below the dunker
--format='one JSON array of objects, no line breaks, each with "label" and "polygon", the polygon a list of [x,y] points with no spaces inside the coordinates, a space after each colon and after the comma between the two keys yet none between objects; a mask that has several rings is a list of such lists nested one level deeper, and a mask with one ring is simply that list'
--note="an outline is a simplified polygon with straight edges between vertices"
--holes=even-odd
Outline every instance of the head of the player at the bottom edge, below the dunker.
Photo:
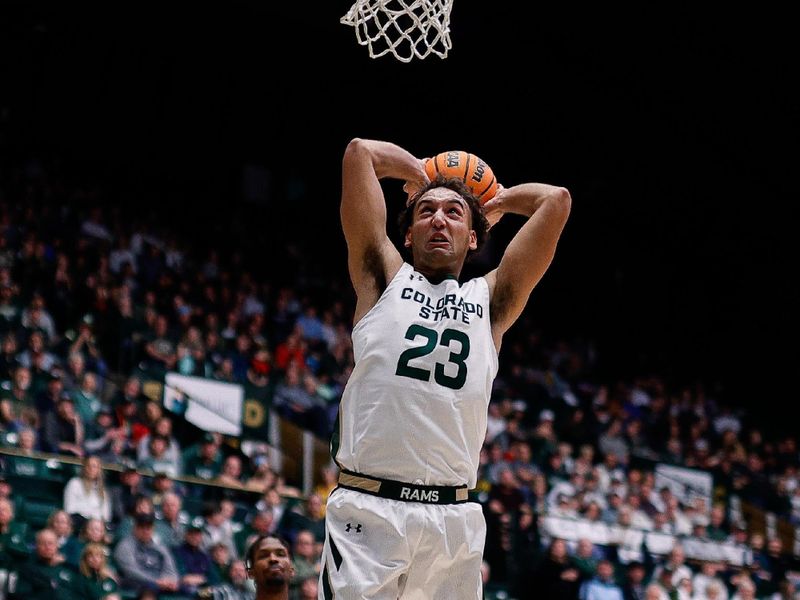
[{"label": "head of the player at the bottom edge, below the dunker", "polygon": [[289,600],[294,577],[289,543],[276,535],[261,535],[247,549],[247,575],[256,584],[256,600]]}]

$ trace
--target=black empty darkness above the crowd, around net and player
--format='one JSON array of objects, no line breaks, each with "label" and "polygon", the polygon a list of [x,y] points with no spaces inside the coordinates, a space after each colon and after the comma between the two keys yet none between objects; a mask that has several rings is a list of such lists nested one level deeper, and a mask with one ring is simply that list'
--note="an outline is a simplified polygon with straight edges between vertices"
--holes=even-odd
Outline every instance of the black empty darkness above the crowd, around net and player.
[{"label": "black empty darkness above the crowd, around net and player", "polygon": [[[768,417],[787,408],[788,15],[456,0],[450,56],[401,64],[357,45],[339,23],[347,1],[171,4],[0,5],[3,162],[40,157],[99,182],[109,205],[157,206],[219,244],[237,241],[226,215],[261,219],[266,264],[293,248],[344,276],[347,142],[466,149],[504,185],[572,192],[529,305],[537,326],[596,340],[618,374],[700,378]],[[265,203],[244,200],[246,165],[268,176]],[[386,189],[399,199],[399,184]]]}]

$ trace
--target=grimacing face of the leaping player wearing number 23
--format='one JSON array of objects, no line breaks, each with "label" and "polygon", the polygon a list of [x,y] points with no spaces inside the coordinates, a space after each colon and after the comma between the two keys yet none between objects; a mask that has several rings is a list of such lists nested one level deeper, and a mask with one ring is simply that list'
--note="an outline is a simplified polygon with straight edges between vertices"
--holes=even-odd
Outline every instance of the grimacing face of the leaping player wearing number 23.
[{"label": "grimacing face of the leaping player wearing number 23", "polygon": [[440,187],[423,195],[414,207],[414,220],[406,232],[405,245],[418,260],[434,265],[462,261],[478,247],[472,214],[455,191]]}]

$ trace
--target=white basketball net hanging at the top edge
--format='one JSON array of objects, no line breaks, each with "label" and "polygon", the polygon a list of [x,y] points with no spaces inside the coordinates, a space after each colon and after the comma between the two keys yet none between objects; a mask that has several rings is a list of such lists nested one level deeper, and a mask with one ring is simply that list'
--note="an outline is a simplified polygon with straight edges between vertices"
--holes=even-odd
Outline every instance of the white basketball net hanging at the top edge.
[{"label": "white basketball net hanging at the top edge", "polygon": [[355,28],[372,58],[387,53],[402,62],[431,53],[446,58],[452,8],[453,0],[356,0],[340,22]]}]

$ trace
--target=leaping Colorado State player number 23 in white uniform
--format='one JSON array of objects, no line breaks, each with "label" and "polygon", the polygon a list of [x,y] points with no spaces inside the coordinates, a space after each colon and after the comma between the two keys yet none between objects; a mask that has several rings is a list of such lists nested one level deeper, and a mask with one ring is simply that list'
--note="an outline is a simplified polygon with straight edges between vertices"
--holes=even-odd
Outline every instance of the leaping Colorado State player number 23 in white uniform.
[{"label": "leaping Colorado State player number 23 in white uniform", "polygon": [[[331,451],[320,598],[481,597],[486,524],[469,501],[503,334],[553,259],[569,192],[528,183],[483,208],[460,180],[429,182],[424,161],[355,139],[341,218],[357,304],[355,368]],[[404,262],[386,233],[380,180],[406,182]],[[498,267],[459,283],[467,255],[506,213],[528,218]]]}]

